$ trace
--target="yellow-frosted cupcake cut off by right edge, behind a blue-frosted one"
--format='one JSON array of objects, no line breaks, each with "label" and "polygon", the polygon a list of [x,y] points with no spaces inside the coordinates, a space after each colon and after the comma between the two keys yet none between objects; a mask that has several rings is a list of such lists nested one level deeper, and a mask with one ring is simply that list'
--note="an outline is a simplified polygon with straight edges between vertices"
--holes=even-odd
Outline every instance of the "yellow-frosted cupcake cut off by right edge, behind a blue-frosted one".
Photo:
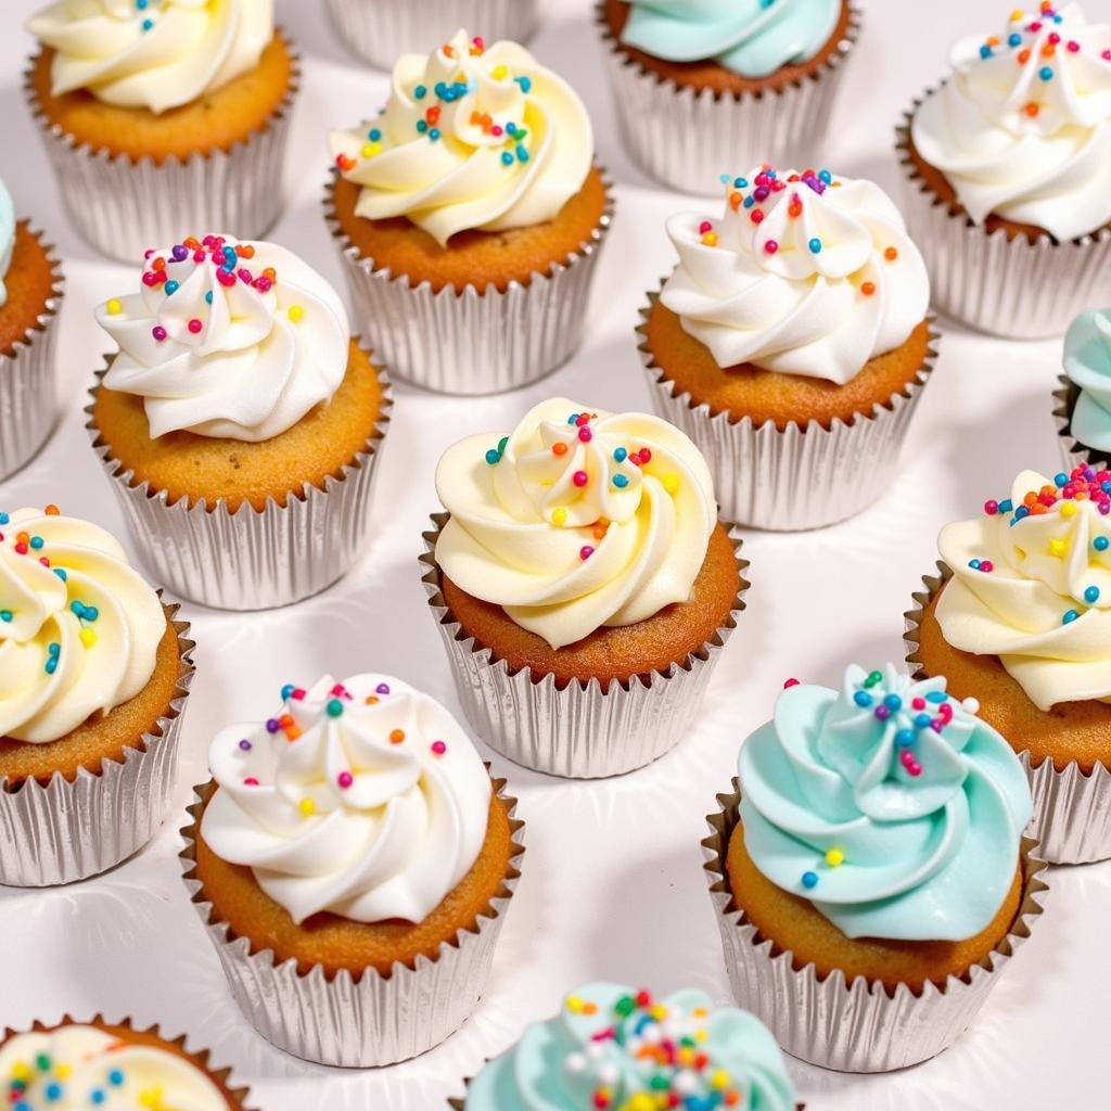
[{"label": "yellow-frosted cupcake cut off by right edge, behind a blue-frosted one", "polygon": [[1023,471],[1011,497],[947,524],[907,614],[908,661],[1019,753],[1040,854],[1111,857],[1111,471]]}]

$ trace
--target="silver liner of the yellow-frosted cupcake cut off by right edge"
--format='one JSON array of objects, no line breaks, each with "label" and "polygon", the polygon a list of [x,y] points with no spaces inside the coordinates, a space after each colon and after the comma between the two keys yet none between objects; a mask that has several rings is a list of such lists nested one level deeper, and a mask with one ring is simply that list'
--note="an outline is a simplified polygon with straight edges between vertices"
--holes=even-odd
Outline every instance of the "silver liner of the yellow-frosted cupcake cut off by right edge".
[{"label": "silver liner of the yellow-frosted cupcake cut off by right edge", "polygon": [[[914,678],[925,674],[918,644],[922,614],[952,575],[952,569],[939,560],[938,574],[922,578],[925,589],[915,591],[914,608],[903,614],[907,662]],[[1097,763],[1091,772],[1085,772],[1075,760],[1070,760],[1058,771],[1050,758],[1032,764],[1030,753],[1019,748],[1022,738],[1007,740],[1030,779],[1034,798],[1030,834],[1040,841],[1039,855],[1051,864],[1084,864],[1111,857],[1111,769]]]}]

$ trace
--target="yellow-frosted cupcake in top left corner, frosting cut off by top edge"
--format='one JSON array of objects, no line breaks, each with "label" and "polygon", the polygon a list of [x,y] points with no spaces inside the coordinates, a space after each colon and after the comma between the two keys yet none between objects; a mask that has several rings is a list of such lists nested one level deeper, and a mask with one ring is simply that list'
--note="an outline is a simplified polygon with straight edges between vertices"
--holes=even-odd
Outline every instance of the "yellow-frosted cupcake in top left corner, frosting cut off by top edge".
[{"label": "yellow-frosted cupcake in top left corner, frosting cut off by top edge", "polygon": [[299,72],[273,0],[58,0],[27,28],[28,103],[97,250],[127,262],[193,228],[253,237],[278,219]]}]

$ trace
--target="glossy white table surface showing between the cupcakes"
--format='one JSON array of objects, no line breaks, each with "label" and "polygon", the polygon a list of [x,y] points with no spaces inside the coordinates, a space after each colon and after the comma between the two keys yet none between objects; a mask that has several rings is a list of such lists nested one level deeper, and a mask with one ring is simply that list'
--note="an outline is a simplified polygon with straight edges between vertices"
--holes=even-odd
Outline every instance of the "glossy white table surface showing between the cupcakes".
[{"label": "glossy white table surface showing between the cupcakes", "polygon": [[[1104,2],[1090,0],[1090,14]],[[3,4],[0,176],[17,214],[46,229],[64,260],[59,356],[66,409],[46,450],[0,484],[0,504],[54,501],[122,537],[81,409],[109,348],[92,306],[132,289],[138,273],[98,258],[62,212],[20,88],[32,42],[19,28],[36,7],[37,0]],[[527,408],[557,393],[611,410],[649,408],[632,329],[644,290],[671,266],[663,221],[692,202],[649,181],[622,150],[588,0],[549,0],[548,8],[532,47],[584,98],[598,157],[617,181],[617,219],[582,349],[548,380],[498,398],[456,400],[398,387],[378,531],[351,574],[277,612],[242,617],[184,607],[199,644],[198,674],[173,812],[153,843],[108,875],[58,890],[0,890],[0,1027],[64,1012],[131,1015],[211,1047],[217,1062],[233,1065],[236,1078],[251,1085],[260,1111],[440,1111],[448,1095],[462,1091],[464,1077],[584,981],[614,979],[661,992],[697,985],[724,1001],[729,988],[699,841],[715,792],[728,789],[738,745],[769,717],[789,675],[829,684],[850,660],[901,661],[901,614],[933,567],[939,527],[974,514],[1021,468],[1058,469],[1049,394],[1060,343],[1005,343],[943,321],[941,359],[888,496],[832,529],[747,539],[748,609],[702,713],[675,751],[631,775],[592,783],[548,779],[492,755],[520,798],[528,852],[489,990],[463,1029],[416,1061],[377,1071],[318,1068],[263,1041],[232,1000],[176,859],[191,787],[207,778],[209,739],[228,722],[264,717],[287,680],[310,682],[322,672],[392,672],[458,710],[417,568],[420,532],[438,508],[432,472],[441,450],[471,432],[508,430]],[[997,30],[1009,8],[1004,0],[865,0],[864,34],[835,121],[839,139],[814,153],[814,164],[894,190],[892,129],[901,112],[943,71],[951,39]],[[279,0],[279,9],[301,50],[304,80],[288,159],[289,202],[270,238],[339,283],[321,218],[324,133],[370,114],[384,99],[387,79],[346,52],[322,0]],[[723,162],[722,169],[748,167]],[[717,212],[717,201],[698,203]],[[1050,882],[1049,910],[1033,939],[954,1049],[880,1077],[791,1061],[807,1104],[814,1111],[1105,1107],[1111,864],[1055,869]]]}]

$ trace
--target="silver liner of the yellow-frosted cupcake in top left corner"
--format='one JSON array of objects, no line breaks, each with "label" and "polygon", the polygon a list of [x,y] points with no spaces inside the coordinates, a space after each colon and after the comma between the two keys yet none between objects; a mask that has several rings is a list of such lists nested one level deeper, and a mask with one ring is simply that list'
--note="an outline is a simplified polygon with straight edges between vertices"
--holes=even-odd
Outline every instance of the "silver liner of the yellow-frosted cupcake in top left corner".
[{"label": "silver liner of the yellow-frosted cupcake in top left corner", "polygon": [[32,59],[23,91],[82,238],[109,258],[134,262],[147,249],[190,234],[223,231],[252,239],[266,232],[284,206],[286,143],[300,80],[299,58],[292,58],[290,88],[260,130],[228,150],[161,163],[93,150],[52,123],[32,83]]}]

